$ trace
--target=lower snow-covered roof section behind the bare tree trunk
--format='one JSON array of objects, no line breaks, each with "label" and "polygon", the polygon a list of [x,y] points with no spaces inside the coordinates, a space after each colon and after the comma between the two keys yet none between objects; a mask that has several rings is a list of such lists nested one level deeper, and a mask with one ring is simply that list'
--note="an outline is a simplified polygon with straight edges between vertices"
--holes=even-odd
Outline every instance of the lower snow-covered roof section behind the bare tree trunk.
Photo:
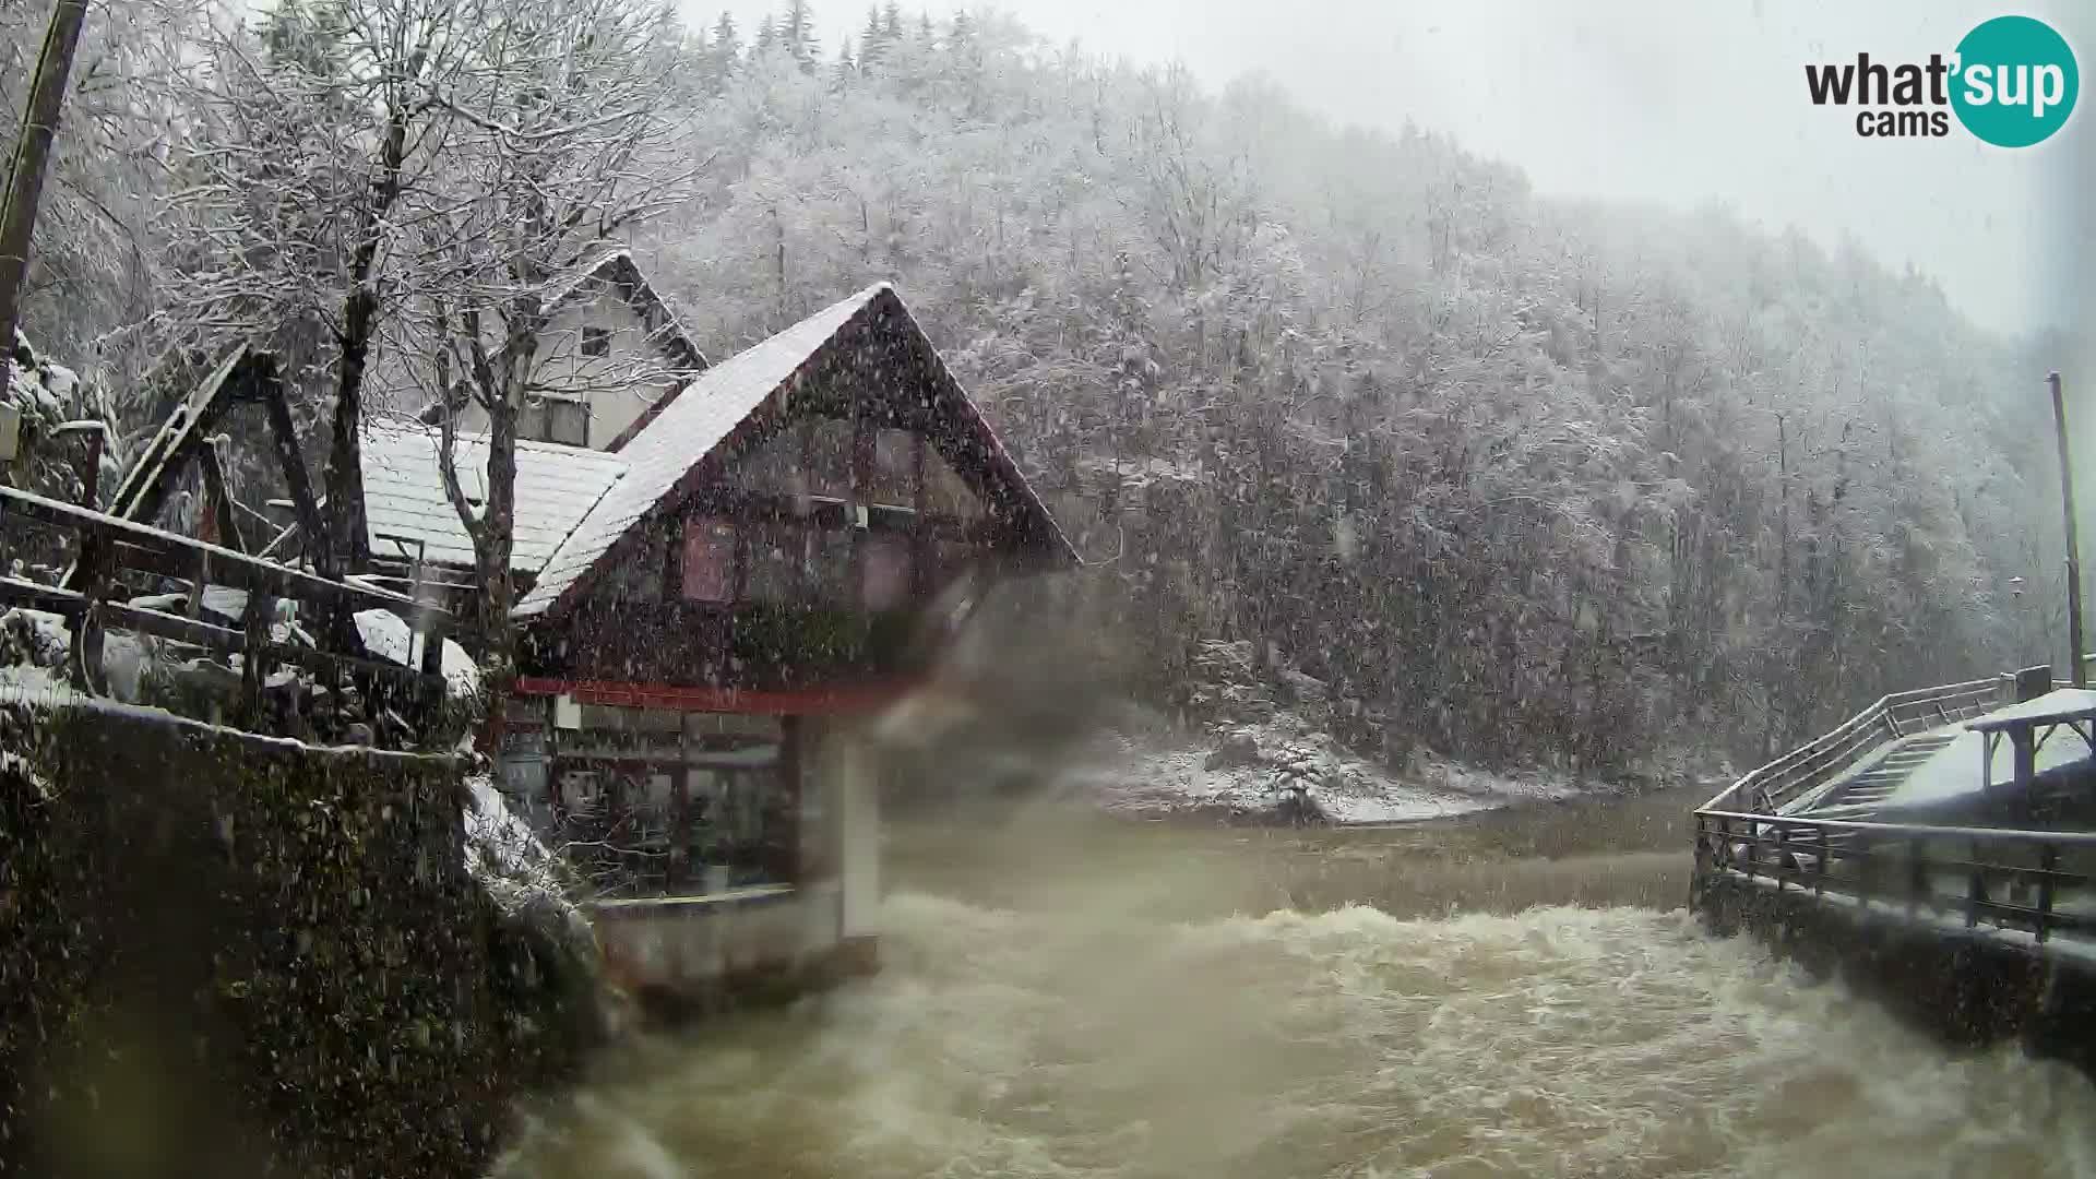
[{"label": "lower snow-covered roof section behind the bare tree trunk", "polygon": [[[474,541],[444,495],[436,426],[388,420],[363,430],[365,524],[373,556],[472,564]],[[459,480],[465,495],[484,501],[488,441],[459,434]],[[516,543],[509,569],[532,573],[560,541],[627,474],[625,455],[553,443],[518,443]],[[400,541],[407,541],[402,548]]]}]

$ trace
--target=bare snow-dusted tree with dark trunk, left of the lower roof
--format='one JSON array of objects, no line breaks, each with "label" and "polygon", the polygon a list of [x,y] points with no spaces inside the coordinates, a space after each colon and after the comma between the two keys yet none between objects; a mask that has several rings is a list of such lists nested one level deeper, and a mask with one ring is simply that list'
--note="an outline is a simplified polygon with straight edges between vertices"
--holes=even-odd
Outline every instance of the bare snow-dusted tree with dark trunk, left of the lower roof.
[{"label": "bare snow-dusted tree with dark trunk, left of the lower roof", "polygon": [[358,428],[384,327],[419,281],[402,250],[446,151],[438,94],[457,86],[478,0],[287,2],[222,27],[182,82],[199,126],[168,208],[184,300],[176,346],[266,340],[329,401],[323,573],[367,558]]}]

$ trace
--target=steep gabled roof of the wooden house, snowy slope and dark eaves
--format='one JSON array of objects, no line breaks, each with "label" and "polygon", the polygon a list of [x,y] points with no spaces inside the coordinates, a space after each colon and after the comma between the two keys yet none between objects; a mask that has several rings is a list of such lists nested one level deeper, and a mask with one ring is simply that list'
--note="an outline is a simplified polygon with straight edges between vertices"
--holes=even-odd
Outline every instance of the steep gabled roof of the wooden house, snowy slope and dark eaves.
[{"label": "steep gabled roof of the wooden house, snowy slope and dark eaves", "polygon": [[929,392],[937,399],[937,409],[983,455],[983,468],[1017,499],[1033,535],[1042,537],[1058,560],[1075,562],[1077,552],[1040,495],[1027,487],[981,409],[947,371],[945,361],[939,359],[937,348],[931,346],[924,329],[895,290],[889,283],[878,283],[706,369],[683,388],[681,396],[662,405],[620,453],[629,464],[627,476],[568,533],[568,539],[539,573],[539,583],[518,602],[516,613],[534,617],[568,608],[637,522],[658,508],[673,510],[704,478],[706,472],[700,470],[700,464],[708,455],[721,449],[738,428],[752,422],[752,415],[773,399],[780,399],[778,405],[784,407],[784,396],[790,396],[799,378],[826,361],[832,350],[843,348],[843,338],[853,336],[859,327],[901,331],[912,346],[920,348],[920,355],[929,359],[935,386]]}]

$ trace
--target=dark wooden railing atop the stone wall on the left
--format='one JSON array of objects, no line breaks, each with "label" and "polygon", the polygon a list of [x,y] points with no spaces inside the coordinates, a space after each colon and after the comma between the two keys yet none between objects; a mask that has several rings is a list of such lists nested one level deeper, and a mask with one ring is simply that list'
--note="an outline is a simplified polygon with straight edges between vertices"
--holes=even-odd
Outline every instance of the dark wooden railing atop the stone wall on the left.
[{"label": "dark wooden railing atop the stone wall on the left", "polygon": [[[199,646],[216,655],[239,655],[241,711],[249,720],[260,715],[264,678],[279,663],[312,671],[321,684],[335,686],[331,692],[333,699],[342,699],[342,684],[354,684],[367,703],[400,703],[405,711],[419,715],[434,715],[444,703],[440,671],[442,642],[451,625],[451,615],[440,606],[373,585],[331,581],[302,569],[166,533],[119,516],[0,487],[0,529],[15,529],[19,524],[57,529],[78,539],[78,587],[0,577],[0,604],[29,606],[67,619],[73,644],[69,673],[75,688],[88,692],[105,690],[101,684],[103,631],[117,627]],[[233,629],[197,617],[117,602],[113,598],[124,590],[124,575],[168,577],[187,581],[191,587],[222,585],[241,590],[247,594],[243,627]],[[296,642],[281,642],[272,638],[279,600],[310,604],[314,606],[312,617],[346,619],[356,610],[388,610],[407,621],[411,636],[419,636],[421,665],[402,667],[398,663],[365,659],[350,650],[316,650]],[[373,711],[367,707],[367,713]]]}]

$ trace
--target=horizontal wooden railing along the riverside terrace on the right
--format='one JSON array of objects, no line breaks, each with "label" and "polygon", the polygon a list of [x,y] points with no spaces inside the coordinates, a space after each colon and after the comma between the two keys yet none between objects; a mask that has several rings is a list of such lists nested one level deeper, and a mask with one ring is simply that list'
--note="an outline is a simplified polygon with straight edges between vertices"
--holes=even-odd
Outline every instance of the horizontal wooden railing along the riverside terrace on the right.
[{"label": "horizontal wooden railing along the riverside terrace on the right", "polygon": [[1733,871],[1777,892],[1847,898],[1909,921],[2021,929],[2039,944],[2096,934],[2083,904],[2096,866],[2092,831],[2008,831],[1851,822],[1704,808],[1696,812],[1696,875]]}]

